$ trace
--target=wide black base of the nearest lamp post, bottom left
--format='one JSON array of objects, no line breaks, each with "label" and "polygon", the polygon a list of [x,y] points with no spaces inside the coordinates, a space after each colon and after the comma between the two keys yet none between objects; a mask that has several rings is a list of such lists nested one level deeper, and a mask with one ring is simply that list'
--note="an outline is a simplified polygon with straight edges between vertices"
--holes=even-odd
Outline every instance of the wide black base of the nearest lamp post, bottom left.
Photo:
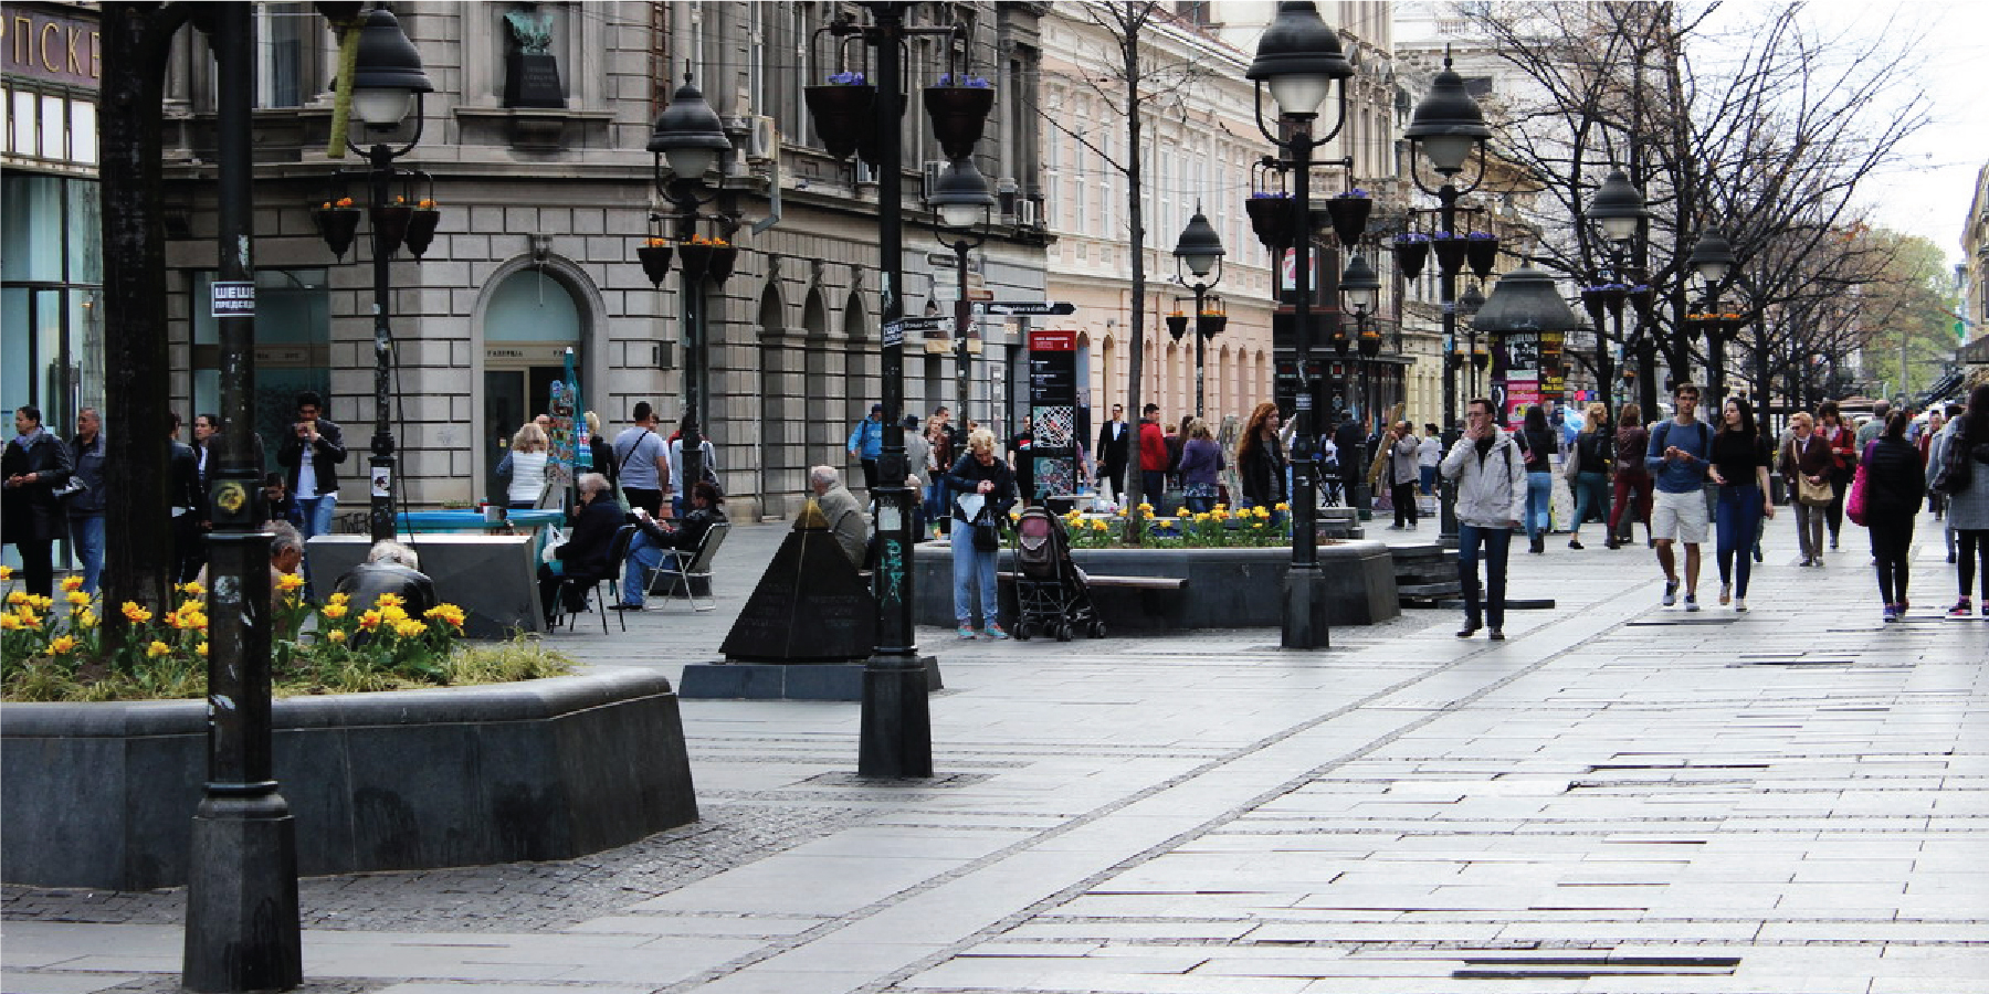
[{"label": "wide black base of the nearest lamp post, bottom left", "polygon": [[201,994],[302,984],[296,823],[282,795],[205,797],[191,867],[181,984]]}]

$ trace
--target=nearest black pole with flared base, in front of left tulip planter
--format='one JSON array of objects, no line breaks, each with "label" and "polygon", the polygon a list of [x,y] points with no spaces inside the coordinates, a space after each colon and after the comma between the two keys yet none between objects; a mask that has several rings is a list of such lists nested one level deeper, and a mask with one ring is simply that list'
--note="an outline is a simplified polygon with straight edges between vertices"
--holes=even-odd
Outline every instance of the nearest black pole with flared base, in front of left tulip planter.
[{"label": "nearest black pole with flared base, in front of left tulip planter", "polygon": [[[251,282],[255,52],[247,4],[215,12],[221,282]],[[211,483],[207,785],[193,817],[181,982],[197,992],[288,990],[302,982],[296,827],[271,761],[269,541],[261,531],[255,429],[255,312],[217,314],[221,471]]]}]

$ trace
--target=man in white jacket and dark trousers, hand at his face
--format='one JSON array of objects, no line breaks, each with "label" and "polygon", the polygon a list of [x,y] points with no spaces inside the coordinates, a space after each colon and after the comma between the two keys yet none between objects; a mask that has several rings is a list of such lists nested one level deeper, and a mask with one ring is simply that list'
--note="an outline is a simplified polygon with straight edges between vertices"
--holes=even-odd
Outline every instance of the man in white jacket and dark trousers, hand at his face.
[{"label": "man in white jacket and dark trousers, hand at his face", "polygon": [[[1526,457],[1512,435],[1492,417],[1490,400],[1464,408],[1464,435],[1440,465],[1444,479],[1458,485],[1458,584],[1464,586],[1464,628],[1470,638],[1492,622],[1490,638],[1506,638],[1506,553],[1512,529],[1526,513]],[[1478,551],[1484,547],[1486,596],[1480,612]]]}]

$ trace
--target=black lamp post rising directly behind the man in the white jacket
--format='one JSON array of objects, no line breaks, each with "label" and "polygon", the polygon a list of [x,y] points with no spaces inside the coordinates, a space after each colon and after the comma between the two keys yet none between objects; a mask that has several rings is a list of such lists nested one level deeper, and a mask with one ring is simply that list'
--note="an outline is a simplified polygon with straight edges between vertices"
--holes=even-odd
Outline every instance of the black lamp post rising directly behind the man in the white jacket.
[{"label": "black lamp post rising directly behind the man in the white jacket", "polygon": [[[1430,91],[1424,93],[1422,101],[1416,103],[1416,113],[1410,117],[1408,129],[1402,131],[1410,145],[1408,175],[1414,179],[1416,189],[1436,197],[1438,203],[1438,231],[1450,237],[1458,235],[1458,197],[1476,191],[1486,177],[1484,169],[1484,147],[1492,139],[1492,129],[1486,127],[1486,115],[1478,109],[1478,101],[1472,99],[1470,89],[1464,87],[1464,78],[1450,68],[1450,52],[1444,52],[1444,68],[1430,82]],[[1464,189],[1458,189],[1456,177],[1464,171],[1464,161],[1470,159],[1472,151],[1478,151],[1478,177]],[[1422,183],[1422,173],[1416,171],[1416,155],[1430,161],[1430,169],[1436,169],[1444,183],[1434,191]],[[1442,262],[1442,258],[1440,258]],[[1444,352],[1458,348],[1458,268],[1454,264],[1438,264],[1438,292],[1444,306]],[[1458,439],[1458,376],[1454,364],[1444,364],[1444,449],[1448,449]],[[1440,541],[1456,543],[1458,539],[1458,511],[1456,511],[1456,485],[1448,479],[1442,483],[1442,511],[1438,515]]]}]

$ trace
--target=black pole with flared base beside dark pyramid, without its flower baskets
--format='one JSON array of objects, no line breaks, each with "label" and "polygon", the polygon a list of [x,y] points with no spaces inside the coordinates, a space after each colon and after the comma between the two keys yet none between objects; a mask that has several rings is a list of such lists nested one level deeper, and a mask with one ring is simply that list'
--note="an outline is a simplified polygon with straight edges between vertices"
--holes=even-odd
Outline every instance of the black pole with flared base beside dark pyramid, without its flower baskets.
[{"label": "black pole with flared base beside dark pyramid, without its flower baskets", "polygon": [[877,48],[877,268],[883,304],[883,459],[877,497],[877,652],[863,670],[863,718],[857,775],[931,777],[933,716],[925,660],[911,626],[911,489],[905,487],[905,219],[899,101],[905,8],[869,4],[875,24],[865,42]]}]

